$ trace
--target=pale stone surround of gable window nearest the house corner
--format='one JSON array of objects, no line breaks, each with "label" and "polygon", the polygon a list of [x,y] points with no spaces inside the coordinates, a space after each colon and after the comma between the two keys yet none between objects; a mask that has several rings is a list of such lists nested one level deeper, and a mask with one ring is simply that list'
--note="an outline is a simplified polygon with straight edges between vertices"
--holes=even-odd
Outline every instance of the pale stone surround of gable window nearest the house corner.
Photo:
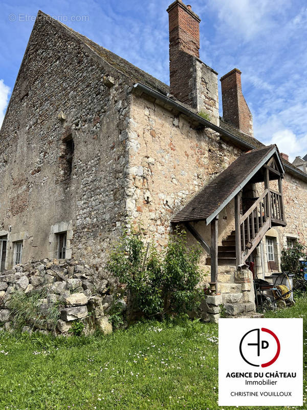
[{"label": "pale stone surround of gable window nearest the house corner", "polygon": [[66,232],[66,249],[65,259],[72,258],[72,239],[74,232],[72,230],[72,221],[57,222],[50,227],[49,235],[49,259],[58,259],[58,235]]}]

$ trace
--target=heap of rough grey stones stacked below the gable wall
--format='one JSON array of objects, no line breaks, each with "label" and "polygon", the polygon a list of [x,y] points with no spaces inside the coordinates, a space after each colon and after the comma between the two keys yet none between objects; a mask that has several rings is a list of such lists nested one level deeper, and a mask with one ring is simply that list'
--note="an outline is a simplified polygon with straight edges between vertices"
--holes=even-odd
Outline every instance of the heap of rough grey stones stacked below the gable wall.
[{"label": "heap of rough grey stones stacked below the gable wall", "polygon": [[[74,260],[43,259],[16,265],[0,276],[0,325],[5,330],[14,327],[10,301],[15,292],[28,295],[41,292],[45,295],[37,301],[41,316],[45,313],[47,316],[54,306],[58,309],[59,319],[53,329],[56,334],[69,334],[75,321],[84,324],[84,332],[99,329],[111,333],[108,313],[117,285],[116,279],[105,271]],[[121,306],[123,310],[126,308],[124,300]],[[36,323],[35,327],[44,333],[52,329],[48,323],[47,326]]]}]

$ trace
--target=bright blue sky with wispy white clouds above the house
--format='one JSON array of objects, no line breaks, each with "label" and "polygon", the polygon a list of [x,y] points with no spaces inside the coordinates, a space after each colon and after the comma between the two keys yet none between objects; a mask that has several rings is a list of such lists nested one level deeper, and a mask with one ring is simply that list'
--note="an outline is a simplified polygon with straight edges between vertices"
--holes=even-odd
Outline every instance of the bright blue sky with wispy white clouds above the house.
[{"label": "bright blue sky with wispy white clouds above the house", "polygon": [[[40,9],[169,83],[165,0],[0,0],[0,124]],[[237,67],[254,134],[307,153],[307,4],[302,0],[190,0],[201,59],[219,78]],[[220,107],[222,100],[220,98]],[[221,112],[222,114],[222,112]]]}]

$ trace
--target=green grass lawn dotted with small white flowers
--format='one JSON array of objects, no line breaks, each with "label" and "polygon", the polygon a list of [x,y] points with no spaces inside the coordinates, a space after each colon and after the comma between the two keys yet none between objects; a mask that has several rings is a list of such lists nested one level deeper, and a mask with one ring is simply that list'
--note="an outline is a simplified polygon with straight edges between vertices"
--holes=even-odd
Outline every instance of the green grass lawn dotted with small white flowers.
[{"label": "green grass lawn dotted with small white flowers", "polygon": [[[307,298],[266,316],[306,319]],[[304,375],[306,332],[305,321]],[[147,322],[108,337],[67,339],[0,334],[0,410],[215,410],[222,408],[217,392],[214,324]]]}]

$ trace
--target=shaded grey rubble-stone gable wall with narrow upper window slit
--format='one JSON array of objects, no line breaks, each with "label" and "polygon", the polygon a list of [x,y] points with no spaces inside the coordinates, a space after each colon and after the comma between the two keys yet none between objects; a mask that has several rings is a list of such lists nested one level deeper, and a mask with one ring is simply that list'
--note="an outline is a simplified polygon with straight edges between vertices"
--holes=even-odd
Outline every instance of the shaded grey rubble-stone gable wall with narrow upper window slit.
[{"label": "shaded grey rubble-stone gable wall with narrow upper window slit", "polygon": [[[68,229],[67,257],[105,260],[125,214],[124,79],[60,23],[37,19],[0,136],[6,269],[13,241],[23,241],[23,261],[56,257],[57,229]],[[74,156],[65,177],[69,134]]]}]

